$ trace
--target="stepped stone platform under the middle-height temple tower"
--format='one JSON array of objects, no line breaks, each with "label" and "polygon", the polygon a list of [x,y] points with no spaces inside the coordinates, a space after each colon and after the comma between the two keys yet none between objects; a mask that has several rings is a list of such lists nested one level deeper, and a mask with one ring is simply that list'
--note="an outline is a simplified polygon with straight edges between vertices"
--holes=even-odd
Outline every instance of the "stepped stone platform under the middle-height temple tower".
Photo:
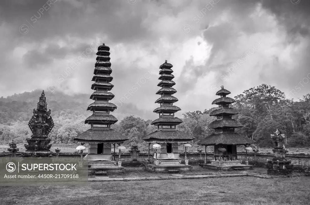
[{"label": "stepped stone platform under the middle-height temple tower", "polygon": [[179,160],[160,160],[158,165],[146,164],[145,170],[151,172],[191,171],[193,166],[181,164]]}]

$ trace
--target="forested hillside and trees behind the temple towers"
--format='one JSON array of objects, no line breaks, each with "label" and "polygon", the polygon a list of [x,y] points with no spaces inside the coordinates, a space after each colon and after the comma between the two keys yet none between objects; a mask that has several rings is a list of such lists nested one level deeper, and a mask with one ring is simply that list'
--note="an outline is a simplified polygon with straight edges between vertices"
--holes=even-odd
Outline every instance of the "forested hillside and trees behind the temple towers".
[{"label": "forested hillside and trees behind the temple towers", "polygon": [[[42,90],[14,94],[0,98],[0,143],[7,144],[11,139],[16,143],[25,143],[31,136],[28,122],[33,115],[33,109]],[[61,92],[46,93],[47,109],[51,109],[55,126],[49,134],[52,143],[73,143],[73,138],[87,129],[84,120],[91,113],[86,111],[92,100],[89,94],[69,96]],[[244,128],[236,129],[244,136],[254,138],[260,146],[272,146],[270,134],[276,129],[285,134],[288,146],[306,146],[310,144],[310,94],[303,96],[297,102],[287,99],[283,92],[275,87],[262,84],[245,90],[234,97],[232,104],[240,114],[234,115]],[[209,116],[215,108],[204,111],[193,111],[183,114],[184,123],[177,129],[193,135],[195,141],[212,133],[208,129],[215,117]],[[112,125],[123,135],[129,137],[126,142],[142,143],[141,138],[156,128],[150,125],[152,120],[140,117],[125,116]],[[146,146],[146,145],[145,145]]]}]

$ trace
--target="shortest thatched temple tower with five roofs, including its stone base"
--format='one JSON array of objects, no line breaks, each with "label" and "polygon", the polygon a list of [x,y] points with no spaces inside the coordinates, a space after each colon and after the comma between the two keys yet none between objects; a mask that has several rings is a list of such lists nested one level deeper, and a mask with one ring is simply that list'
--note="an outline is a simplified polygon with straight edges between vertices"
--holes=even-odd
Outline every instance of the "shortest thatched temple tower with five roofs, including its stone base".
[{"label": "shortest thatched temple tower with five roofs, including its stone base", "polygon": [[224,86],[221,86],[221,88],[215,94],[220,96],[220,98],[212,102],[212,105],[219,105],[219,108],[210,113],[210,116],[217,117],[209,125],[209,128],[215,130],[215,133],[197,142],[197,144],[205,146],[214,146],[214,159],[211,160],[211,164],[206,164],[205,162],[202,164],[202,167],[229,170],[250,169],[252,167],[251,165],[241,164],[241,161],[238,160],[237,145],[247,147],[255,143],[255,141],[235,132],[235,128],[243,127],[237,120],[232,119],[232,115],[238,114],[236,109],[229,107],[235,100],[226,97],[231,92],[224,89]]}]

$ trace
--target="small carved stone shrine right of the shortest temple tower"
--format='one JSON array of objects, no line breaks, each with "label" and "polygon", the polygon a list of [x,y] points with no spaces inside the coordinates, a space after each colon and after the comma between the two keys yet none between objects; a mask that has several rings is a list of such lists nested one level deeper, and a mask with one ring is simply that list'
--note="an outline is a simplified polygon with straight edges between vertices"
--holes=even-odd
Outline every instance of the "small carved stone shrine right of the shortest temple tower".
[{"label": "small carved stone shrine right of the shortest temple tower", "polygon": [[272,175],[287,175],[292,173],[291,161],[285,158],[285,154],[288,152],[284,146],[285,135],[279,135],[279,131],[275,132],[275,135],[271,134],[271,139],[274,141],[274,147],[272,149],[274,157],[272,160],[267,160],[267,174]]}]

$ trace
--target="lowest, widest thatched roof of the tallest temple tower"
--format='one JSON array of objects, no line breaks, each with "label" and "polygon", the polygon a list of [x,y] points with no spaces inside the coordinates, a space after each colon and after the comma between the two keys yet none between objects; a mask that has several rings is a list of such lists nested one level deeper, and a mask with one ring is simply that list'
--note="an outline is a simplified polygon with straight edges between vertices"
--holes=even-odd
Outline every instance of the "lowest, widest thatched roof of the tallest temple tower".
[{"label": "lowest, widest thatched roof of the tallest temple tower", "polygon": [[89,129],[81,134],[78,134],[73,140],[81,143],[120,143],[126,141],[128,138],[121,133],[109,130],[94,130]]}]

